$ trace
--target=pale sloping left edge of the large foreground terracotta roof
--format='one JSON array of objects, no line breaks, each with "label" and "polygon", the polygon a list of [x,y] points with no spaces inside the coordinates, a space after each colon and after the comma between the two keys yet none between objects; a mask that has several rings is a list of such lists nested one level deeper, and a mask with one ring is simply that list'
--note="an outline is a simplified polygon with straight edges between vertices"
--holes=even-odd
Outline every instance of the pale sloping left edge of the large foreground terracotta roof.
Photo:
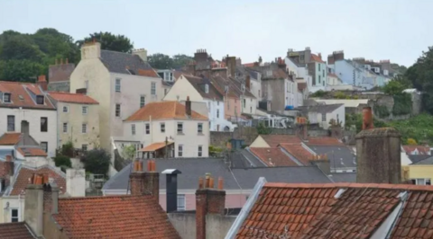
[{"label": "pale sloping left edge of the large foreground terracotta roof", "polygon": [[246,219],[246,217],[248,217],[248,214],[250,214],[251,208],[253,208],[255,202],[259,198],[260,192],[262,191],[265,183],[267,183],[266,179],[264,177],[260,177],[259,181],[257,181],[257,183],[255,184],[253,191],[250,194],[250,197],[246,200],[244,207],[241,210],[241,213],[236,217],[235,222],[228,230],[226,238],[235,238],[235,235],[239,231],[239,228],[241,228],[244,220]]}]

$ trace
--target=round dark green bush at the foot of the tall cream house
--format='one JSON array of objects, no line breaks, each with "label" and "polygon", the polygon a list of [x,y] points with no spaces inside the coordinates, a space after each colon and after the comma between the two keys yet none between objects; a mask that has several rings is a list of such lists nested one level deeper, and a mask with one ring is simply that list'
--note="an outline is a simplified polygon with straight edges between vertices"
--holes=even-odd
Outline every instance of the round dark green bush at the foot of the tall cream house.
[{"label": "round dark green bush at the foot of the tall cream house", "polygon": [[105,149],[96,148],[89,150],[81,157],[86,172],[95,174],[108,173],[111,164],[111,155]]}]

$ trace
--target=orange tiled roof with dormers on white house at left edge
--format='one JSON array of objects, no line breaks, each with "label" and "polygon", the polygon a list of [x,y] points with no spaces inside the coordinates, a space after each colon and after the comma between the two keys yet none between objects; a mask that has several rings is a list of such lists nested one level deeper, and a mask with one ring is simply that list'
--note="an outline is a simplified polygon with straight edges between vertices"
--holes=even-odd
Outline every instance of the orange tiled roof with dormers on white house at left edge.
[{"label": "orange tiled roof with dormers on white house at left edge", "polygon": [[3,93],[11,93],[11,102],[3,102],[3,99],[0,99],[0,107],[55,110],[47,98],[44,99],[44,104],[36,103],[35,95],[44,95],[38,84],[0,81],[0,88],[3,89]]}]

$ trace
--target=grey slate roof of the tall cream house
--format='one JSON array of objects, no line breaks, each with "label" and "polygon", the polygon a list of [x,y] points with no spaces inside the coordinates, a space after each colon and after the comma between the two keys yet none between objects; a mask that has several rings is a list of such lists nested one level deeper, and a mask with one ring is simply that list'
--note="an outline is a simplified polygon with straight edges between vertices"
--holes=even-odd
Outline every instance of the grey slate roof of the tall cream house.
[{"label": "grey slate roof of the tall cream house", "polygon": [[126,68],[134,71],[138,75],[138,70],[152,69],[149,63],[144,62],[137,55],[111,50],[101,50],[101,61],[108,71],[119,74],[131,75]]}]

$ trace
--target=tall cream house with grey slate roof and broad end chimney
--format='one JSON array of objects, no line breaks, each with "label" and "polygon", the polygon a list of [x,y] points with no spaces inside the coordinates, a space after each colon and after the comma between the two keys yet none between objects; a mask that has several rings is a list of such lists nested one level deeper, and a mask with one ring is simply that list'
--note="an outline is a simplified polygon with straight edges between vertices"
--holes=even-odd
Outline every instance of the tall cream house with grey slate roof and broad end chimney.
[{"label": "tall cream house with grey slate roof and broad end chimney", "polygon": [[123,120],[146,103],[162,100],[161,77],[146,55],[145,49],[128,54],[90,42],[81,48],[81,60],[70,75],[71,93],[86,93],[99,102],[100,143],[110,152],[113,138],[123,136]]}]

